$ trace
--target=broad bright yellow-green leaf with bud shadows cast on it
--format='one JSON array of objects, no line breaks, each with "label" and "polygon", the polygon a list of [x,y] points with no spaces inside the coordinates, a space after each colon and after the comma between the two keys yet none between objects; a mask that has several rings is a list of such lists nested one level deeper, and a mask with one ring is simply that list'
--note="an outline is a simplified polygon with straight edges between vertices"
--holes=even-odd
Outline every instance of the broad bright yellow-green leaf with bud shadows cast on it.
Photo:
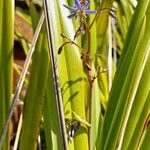
[{"label": "broad bright yellow-green leaf with bud shadows cast on it", "polygon": [[[61,31],[73,39],[75,35],[73,23],[67,18],[69,12],[63,7],[63,4],[67,3],[65,1],[57,3],[60,15]],[[84,73],[79,49],[75,46],[66,46],[64,48],[64,55],[66,63],[64,65],[67,67],[67,82],[69,83],[68,85],[70,89],[69,101],[71,102],[71,109],[85,120]],[[73,118],[75,118],[75,116],[73,116]],[[74,137],[74,148],[81,150],[88,149],[87,130],[83,127],[79,129],[78,134]]]}]

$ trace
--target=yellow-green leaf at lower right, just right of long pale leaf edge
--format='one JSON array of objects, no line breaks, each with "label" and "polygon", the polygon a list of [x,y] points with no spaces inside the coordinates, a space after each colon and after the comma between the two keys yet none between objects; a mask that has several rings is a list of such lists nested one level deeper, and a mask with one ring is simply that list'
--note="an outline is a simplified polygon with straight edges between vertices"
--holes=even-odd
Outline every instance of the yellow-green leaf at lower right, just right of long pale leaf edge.
[{"label": "yellow-green leaf at lower right, just right of long pale leaf edge", "polygon": [[137,93],[133,108],[128,120],[126,133],[123,141],[123,148],[137,147],[140,142],[140,136],[144,128],[144,122],[150,110],[150,77],[149,77],[150,57],[147,60]]}]

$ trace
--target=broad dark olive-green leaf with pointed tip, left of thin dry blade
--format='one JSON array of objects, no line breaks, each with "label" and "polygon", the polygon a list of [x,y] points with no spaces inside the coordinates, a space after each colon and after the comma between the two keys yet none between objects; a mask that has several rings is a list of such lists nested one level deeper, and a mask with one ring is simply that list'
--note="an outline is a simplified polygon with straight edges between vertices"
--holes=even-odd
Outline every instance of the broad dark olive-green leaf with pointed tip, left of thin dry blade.
[{"label": "broad dark olive-green leaf with pointed tip, left of thin dry blade", "polygon": [[20,149],[36,149],[49,67],[48,50],[41,33],[36,47],[26,94]]}]

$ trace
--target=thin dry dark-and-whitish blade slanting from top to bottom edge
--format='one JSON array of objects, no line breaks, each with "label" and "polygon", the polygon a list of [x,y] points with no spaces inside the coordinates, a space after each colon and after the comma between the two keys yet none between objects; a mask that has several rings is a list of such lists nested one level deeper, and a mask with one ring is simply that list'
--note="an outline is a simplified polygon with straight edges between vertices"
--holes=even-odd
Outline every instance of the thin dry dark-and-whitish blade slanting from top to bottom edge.
[{"label": "thin dry dark-and-whitish blade slanting from top to bottom edge", "polygon": [[50,19],[49,19],[50,14],[48,10],[49,10],[48,1],[44,0],[44,11],[45,11],[45,16],[46,16],[48,44],[49,44],[49,52],[50,52],[51,65],[52,65],[52,71],[53,71],[56,99],[57,99],[57,110],[58,110],[58,115],[60,119],[59,121],[60,121],[60,129],[61,129],[61,136],[62,136],[62,144],[63,144],[63,149],[67,150],[67,135],[66,135],[66,127],[65,127],[65,118],[63,114],[62,96],[60,93],[60,86],[58,82],[58,70],[56,68],[56,60],[55,60],[55,55],[54,55],[54,46],[52,43],[51,26],[50,26]]}]

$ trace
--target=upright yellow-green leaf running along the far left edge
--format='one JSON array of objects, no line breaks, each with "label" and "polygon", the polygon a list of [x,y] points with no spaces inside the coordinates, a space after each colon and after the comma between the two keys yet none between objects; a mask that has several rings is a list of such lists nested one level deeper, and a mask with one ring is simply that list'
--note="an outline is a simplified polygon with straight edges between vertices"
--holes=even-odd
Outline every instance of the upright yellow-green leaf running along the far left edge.
[{"label": "upright yellow-green leaf running along the far left edge", "polygon": [[[14,2],[0,1],[0,135],[6,123],[12,98]],[[9,18],[9,19],[8,19]],[[9,130],[4,149],[9,149]]]}]

